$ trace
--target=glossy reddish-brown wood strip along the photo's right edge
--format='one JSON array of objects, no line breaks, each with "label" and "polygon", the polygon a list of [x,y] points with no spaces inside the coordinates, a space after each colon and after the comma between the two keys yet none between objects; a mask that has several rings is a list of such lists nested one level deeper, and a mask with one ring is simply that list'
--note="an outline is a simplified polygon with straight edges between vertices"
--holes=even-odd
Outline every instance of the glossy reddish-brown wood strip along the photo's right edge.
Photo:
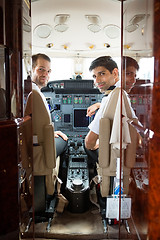
[{"label": "glossy reddish-brown wood strip along the photo's right edge", "polygon": [[[148,201],[148,239],[160,239],[160,1],[154,0],[154,85],[150,129],[150,177]],[[158,141],[157,141],[158,140]]]}]

